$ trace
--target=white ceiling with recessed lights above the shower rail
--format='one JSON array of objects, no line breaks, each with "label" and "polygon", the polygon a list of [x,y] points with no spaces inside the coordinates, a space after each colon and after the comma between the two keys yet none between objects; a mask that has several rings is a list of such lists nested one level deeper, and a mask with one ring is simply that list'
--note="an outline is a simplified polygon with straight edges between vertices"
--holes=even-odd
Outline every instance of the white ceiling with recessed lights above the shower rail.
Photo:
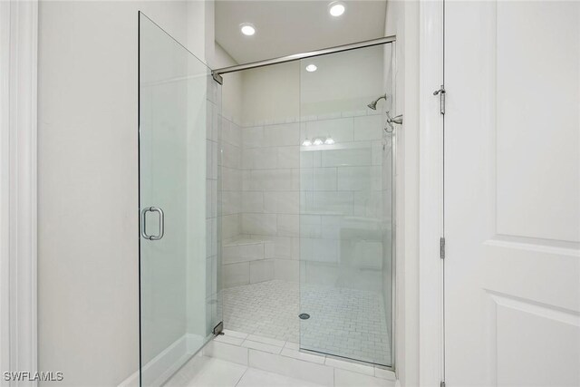
[{"label": "white ceiling with recessed lights above the shower rail", "polygon": [[[304,53],[384,35],[386,0],[343,1],[339,17],[328,13],[331,0],[216,1],[216,41],[237,63]],[[245,36],[239,24],[252,23]]]}]

